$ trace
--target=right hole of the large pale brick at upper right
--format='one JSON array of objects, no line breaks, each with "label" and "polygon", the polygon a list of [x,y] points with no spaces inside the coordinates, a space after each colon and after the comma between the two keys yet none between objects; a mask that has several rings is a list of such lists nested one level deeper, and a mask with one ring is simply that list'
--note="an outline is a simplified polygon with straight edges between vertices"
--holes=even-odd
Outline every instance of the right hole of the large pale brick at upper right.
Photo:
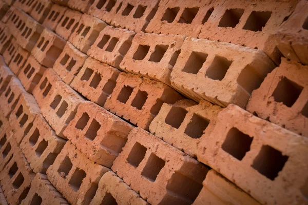
[{"label": "right hole of the large pale brick at upper right", "polygon": [[216,55],[213,62],[207,68],[205,76],[213,80],[222,80],[231,64],[232,60]]}]

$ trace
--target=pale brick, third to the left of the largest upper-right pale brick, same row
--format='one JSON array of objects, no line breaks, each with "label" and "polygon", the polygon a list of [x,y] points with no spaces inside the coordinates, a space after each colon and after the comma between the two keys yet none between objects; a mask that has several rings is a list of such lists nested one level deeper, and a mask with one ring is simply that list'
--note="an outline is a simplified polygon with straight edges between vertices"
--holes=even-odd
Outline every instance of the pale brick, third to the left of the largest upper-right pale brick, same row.
[{"label": "pale brick, third to the left of the largest upper-right pale brick, same row", "polygon": [[74,32],[72,32],[69,37],[69,42],[80,51],[87,53],[99,36],[100,32],[106,26],[107,24],[102,20],[87,14],[83,14],[80,19],[79,27],[76,27]]}]

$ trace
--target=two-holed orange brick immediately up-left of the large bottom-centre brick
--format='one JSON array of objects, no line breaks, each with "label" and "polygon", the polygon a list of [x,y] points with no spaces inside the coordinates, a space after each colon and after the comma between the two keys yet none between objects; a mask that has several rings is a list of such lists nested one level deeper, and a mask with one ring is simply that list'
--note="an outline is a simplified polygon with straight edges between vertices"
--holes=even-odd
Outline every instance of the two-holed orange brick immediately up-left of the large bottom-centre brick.
[{"label": "two-holed orange brick immediately up-left of the large bottom-centre brick", "polygon": [[104,108],[86,101],[78,106],[63,135],[92,161],[111,168],[132,128]]}]

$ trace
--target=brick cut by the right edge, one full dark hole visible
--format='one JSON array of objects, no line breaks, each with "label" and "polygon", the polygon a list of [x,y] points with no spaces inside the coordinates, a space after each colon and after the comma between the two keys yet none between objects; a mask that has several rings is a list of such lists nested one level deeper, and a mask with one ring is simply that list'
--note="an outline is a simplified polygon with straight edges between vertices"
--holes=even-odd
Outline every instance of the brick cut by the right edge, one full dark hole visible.
[{"label": "brick cut by the right edge, one full dark hole visible", "polygon": [[308,66],[281,59],[249,99],[247,111],[297,134],[308,136]]}]

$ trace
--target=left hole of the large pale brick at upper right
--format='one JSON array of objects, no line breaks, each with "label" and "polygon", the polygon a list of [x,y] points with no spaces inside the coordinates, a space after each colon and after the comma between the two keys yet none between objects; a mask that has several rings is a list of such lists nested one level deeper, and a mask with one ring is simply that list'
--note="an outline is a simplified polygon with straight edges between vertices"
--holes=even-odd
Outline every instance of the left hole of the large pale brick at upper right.
[{"label": "left hole of the large pale brick at upper right", "polygon": [[183,71],[186,73],[197,74],[205,63],[206,58],[206,53],[192,51],[183,68]]}]

